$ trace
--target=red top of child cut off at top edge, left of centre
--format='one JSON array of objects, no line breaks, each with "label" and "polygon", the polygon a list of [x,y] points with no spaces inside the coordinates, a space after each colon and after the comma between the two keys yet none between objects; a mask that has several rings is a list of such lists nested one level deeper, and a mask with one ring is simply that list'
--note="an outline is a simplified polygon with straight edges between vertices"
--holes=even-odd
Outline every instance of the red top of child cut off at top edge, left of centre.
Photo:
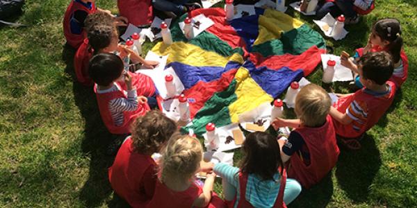
[{"label": "red top of child cut off at top edge, left of centre", "polygon": [[117,0],[120,15],[135,26],[151,24],[154,20],[151,0]]}]

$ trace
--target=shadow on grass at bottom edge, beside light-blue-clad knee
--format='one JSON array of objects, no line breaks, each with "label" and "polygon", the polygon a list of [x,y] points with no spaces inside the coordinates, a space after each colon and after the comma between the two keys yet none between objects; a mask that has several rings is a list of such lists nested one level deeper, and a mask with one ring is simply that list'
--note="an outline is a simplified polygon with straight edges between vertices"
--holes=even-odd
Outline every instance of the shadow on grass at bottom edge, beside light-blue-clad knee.
[{"label": "shadow on grass at bottom edge, beside light-blue-clad knee", "polygon": [[303,189],[288,207],[326,207],[333,195],[332,171],[310,189]]}]

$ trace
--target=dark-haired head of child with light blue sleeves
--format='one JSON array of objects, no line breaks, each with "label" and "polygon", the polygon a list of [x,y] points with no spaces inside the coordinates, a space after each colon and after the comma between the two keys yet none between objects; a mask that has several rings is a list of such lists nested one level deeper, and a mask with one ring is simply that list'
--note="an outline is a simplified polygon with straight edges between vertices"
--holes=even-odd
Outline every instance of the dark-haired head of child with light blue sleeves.
[{"label": "dark-haired head of child with light blue sleeves", "polygon": [[284,168],[278,141],[268,133],[250,133],[243,142],[242,150],[245,155],[240,161],[242,173],[255,174],[263,180],[274,180],[278,168]]}]

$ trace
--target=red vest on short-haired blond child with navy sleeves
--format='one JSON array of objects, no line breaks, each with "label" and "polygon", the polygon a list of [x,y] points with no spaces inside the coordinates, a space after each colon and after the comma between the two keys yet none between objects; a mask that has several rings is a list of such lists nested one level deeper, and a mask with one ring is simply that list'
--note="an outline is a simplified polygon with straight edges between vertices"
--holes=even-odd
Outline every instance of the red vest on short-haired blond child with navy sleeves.
[{"label": "red vest on short-haired blond child with navy sleeves", "polygon": [[329,115],[322,127],[300,127],[296,128],[295,132],[304,139],[310,153],[310,164],[306,166],[300,155],[294,154],[290,159],[288,177],[294,178],[302,187],[309,189],[313,184],[320,182],[336,165],[340,153],[336,144],[336,133]]}]

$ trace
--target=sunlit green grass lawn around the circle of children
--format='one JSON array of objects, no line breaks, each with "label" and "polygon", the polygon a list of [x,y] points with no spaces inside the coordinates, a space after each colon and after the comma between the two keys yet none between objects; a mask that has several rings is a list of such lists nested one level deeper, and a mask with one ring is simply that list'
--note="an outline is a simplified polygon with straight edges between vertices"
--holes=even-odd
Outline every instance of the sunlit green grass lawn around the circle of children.
[{"label": "sunlit green grass lawn around the circle of children", "polygon": [[[112,137],[90,87],[74,83],[72,55],[65,49],[62,19],[70,0],[26,0],[19,22],[0,28],[0,207],[126,207],[110,187],[104,155]],[[115,1],[100,8],[117,12]],[[342,150],[332,173],[304,190],[290,207],[417,207],[417,1],[377,1],[334,53],[366,43],[382,17],[402,22],[409,78],[389,112],[368,131],[363,148]],[[313,26],[311,19],[288,13]],[[317,26],[313,26],[318,30]],[[152,47],[145,43],[145,52]],[[308,79],[320,83],[322,72]],[[345,83],[334,85],[347,92]],[[241,157],[236,150],[235,160]],[[221,190],[216,183],[216,191]]]}]

